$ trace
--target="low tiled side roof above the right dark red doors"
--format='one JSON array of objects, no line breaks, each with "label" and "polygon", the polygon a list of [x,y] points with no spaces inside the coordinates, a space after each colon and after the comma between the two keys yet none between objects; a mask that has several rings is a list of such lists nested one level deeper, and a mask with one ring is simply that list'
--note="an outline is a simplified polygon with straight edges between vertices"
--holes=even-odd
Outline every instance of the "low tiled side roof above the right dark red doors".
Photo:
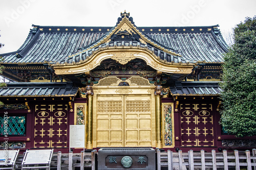
[{"label": "low tiled side roof above the right dark red doors", "polygon": [[170,87],[172,95],[219,95],[222,89],[220,82],[176,82]]}]

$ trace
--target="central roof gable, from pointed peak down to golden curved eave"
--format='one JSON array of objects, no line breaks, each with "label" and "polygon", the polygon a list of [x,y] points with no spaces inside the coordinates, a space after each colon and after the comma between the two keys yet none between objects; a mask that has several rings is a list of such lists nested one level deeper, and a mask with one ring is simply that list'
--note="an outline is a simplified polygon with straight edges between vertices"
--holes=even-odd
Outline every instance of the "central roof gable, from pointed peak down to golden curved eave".
[{"label": "central roof gable, from pointed peak down to golden curved eave", "polygon": [[134,26],[129,15],[126,17],[126,14],[122,15],[120,23],[108,36],[85,50],[51,65],[58,75],[81,74],[94,69],[106,59],[127,64],[136,58],[144,60],[147,65],[158,71],[167,73],[189,74],[194,65],[182,59],[181,55],[145,36]]}]

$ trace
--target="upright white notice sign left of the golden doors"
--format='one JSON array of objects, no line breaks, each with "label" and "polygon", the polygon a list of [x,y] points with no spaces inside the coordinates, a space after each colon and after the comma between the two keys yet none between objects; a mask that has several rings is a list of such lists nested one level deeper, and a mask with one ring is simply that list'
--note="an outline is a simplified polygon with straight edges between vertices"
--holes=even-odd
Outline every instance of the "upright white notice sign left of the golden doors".
[{"label": "upright white notice sign left of the golden doors", "polygon": [[84,148],[84,125],[70,125],[69,148]]}]

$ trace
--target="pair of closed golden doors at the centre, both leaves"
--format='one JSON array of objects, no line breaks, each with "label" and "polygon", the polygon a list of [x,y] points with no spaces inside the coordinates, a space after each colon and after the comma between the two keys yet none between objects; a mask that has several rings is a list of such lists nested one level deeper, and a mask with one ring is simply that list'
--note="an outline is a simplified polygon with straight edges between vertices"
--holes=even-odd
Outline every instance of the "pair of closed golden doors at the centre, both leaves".
[{"label": "pair of closed golden doors at the centre, both leaves", "polygon": [[152,147],[152,95],[97,95],[97,147]]}]

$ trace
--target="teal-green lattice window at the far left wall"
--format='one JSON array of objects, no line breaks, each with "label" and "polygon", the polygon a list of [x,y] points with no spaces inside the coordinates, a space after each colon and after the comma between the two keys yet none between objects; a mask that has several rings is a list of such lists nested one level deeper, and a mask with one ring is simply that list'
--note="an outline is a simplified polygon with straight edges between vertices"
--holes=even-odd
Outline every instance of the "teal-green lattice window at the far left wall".
[{"label": "teal-green lattice window at the far left wall", "polygon": [[[0,135],[4,135],[4,117],[0,117]],[[26,117],[9,116],[8,117],[8,136],[9,135],[26,135]]]}]

